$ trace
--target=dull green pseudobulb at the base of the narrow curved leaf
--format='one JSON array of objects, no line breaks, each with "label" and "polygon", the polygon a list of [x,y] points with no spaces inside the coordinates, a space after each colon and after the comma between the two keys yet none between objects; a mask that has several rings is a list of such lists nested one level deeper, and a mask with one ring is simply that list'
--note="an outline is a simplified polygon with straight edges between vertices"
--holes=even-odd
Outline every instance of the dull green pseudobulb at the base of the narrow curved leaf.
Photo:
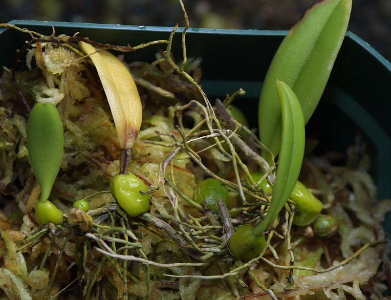
[{"label": "dull green pseudobulb at the base of the narrow curved leaf", "polygon": [[251,259],[261,254],[266,245],[263,235],[256,236],[250,224],[240,226],[229,239],[229,250],[233,257]]}]

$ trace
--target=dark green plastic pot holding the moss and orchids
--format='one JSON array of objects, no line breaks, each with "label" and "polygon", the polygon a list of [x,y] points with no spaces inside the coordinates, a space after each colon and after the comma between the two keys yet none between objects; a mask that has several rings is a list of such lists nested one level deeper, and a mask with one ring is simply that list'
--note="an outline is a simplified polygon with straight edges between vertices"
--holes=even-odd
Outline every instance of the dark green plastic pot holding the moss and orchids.
[{"label": "dark green plastic pot holding the moss and orchids", "polygon": [[[130,44],[168,39],[171,27],[106,25],[14,20],[10,23],[50,35],[64,33],[89,37],[101,43]],[[176,33],[174,54],[181,54],[180,33]],[[217,30],[189,28],[188,57],[202,57],[202,86],[211,99],[223,98],[240,87],[246,90],[235,105],[256,127],[258,97],[267,68],[287,31]],[[10,67],[15,50],[27,34],[0,29],[0,66]],[[151,62],[164,45],[127,53],[128,61]],[[320,102],[306,130],[320,137],[320,150],[345,151],[362,133],[373,159],[371,174],[380,199],[391,197],[391,64],[368,43],[348,32]],[[391,218],[386,230],[391,234]]]}]

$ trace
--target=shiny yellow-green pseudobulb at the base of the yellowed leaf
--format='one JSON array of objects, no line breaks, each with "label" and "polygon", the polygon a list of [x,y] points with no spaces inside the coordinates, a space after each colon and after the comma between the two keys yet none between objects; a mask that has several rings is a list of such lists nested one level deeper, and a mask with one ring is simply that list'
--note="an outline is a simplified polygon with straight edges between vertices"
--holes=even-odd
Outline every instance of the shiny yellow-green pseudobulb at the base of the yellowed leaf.
[{"label": "shiny yellow-green pseudobulb at the base of the yellowed leaf", "polygon": [[133,173],[117,174],[111,178],[110,191],[119,206],[130,216],[138,216],[150,209],[150,194],[145,183]]}]

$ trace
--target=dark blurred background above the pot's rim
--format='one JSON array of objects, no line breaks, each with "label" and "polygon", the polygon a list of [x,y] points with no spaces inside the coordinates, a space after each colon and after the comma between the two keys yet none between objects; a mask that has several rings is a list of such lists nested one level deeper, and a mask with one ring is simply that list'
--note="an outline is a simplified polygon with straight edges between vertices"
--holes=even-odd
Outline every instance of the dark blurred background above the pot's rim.
[{"label": "dark blurred background above the pot's rim", "polygon": [[[314,0],[184,0],[192,27],[289,29]],[[0,0],[13,19],[183,25],[177,0]],[[391,0],[354,0],[349,30],[391,60]]]}]

